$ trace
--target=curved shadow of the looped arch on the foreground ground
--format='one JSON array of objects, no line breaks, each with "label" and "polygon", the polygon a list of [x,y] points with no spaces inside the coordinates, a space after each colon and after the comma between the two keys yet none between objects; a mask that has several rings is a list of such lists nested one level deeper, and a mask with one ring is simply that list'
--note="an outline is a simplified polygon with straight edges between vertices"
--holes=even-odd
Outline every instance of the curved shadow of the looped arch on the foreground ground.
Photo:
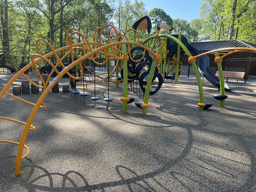
[{"label": "curved shadow of the looped arch on the foreground ground", "polygon": [[[154,179],[155,176],[170,170],[172,166],[176,165],[179,161],[186,158],[190,149],[192,148],[192,131],[187,129],[188,132],[188,142],[186,146],[184,146],[184,150],[173,160],[167,160],[165,164],[160,166],[160,168],[156,168],[156,170],[148,172],[146,174],[137,174],[132,169],[118,165],[116,166],[116,172],[118,176],[120,176],[120,180],[115,180],[112,182],[102,182],[98,184],[89,184],[86,178],[79,172],[70,170],[65,174],[54,172],[50,173],[46,168],[41,166],[34,165],[32,160],[26,158],[28,160],[28,165],[22,166],[22,168],[30,168],[28,174],[22,174],[20,177],[20,183],[22,183],[22,187],[26,188],[28,191],[42,190],[42,191],[63,191],[63,192],[82,192],[82,191],[94,191],[94,190],[102,190],[105,191],[107,188],[115,188],[117,186],[126,185],[129,191],[157,191],[157,188],[161,188],[163,191],[169,191],[165,186],[163,186],[160,182]],[[157,154],[159,155],[159,154]],[[165,157],[166,158],[166,157]],[[38,174],[42,172],[41,175],[36,175],[34,177],[33,174]],[[24,176],[24,177],[23,177]],[[34,178],[33,178],[34,177]],[[55,178],[59,177],[61,180],[61,184],[56,184]],[[45,179],[46,178],[46,179]],[[147,180],[150,179],[154,181],[154,185],[150,184]],[[46,181],[47,182],[46,182]],[[78,182],[80,181],[80,182]],[[79,184],[78,184],[79,183]]]}]

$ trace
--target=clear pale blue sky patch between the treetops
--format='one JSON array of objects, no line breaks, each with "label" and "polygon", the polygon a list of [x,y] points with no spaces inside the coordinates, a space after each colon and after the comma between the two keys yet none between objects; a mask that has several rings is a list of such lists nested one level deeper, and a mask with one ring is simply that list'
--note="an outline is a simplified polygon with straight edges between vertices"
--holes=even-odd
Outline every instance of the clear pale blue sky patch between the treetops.
[{"label": "clear pale blue sky patch between the treetops", "polygon": [[[141,0],[145,4],[146,10],[150,12],[153,8],[161,8],[172,19],[184,19],[190,22],[199,18],[199,10],[202,5],[201,0]],[[131,1],[134,3],[134,1]]]}]

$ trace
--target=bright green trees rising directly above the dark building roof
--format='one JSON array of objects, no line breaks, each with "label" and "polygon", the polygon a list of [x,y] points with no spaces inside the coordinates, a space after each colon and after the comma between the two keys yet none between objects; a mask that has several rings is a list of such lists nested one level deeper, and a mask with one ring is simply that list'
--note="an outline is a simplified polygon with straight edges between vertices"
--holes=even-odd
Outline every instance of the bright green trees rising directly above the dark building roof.
[{"label": "bright green trees rising directly above the dark building roof", "polygon": [[[203,0],[200,8],[202,29],[198,33],[202,40],[227,40],[232,25],[234,0]],[[255,0],[238,0],[236,6],[234,33],[232,38],[256,43]],[[236,37],[237,33],[237,37]]]}]

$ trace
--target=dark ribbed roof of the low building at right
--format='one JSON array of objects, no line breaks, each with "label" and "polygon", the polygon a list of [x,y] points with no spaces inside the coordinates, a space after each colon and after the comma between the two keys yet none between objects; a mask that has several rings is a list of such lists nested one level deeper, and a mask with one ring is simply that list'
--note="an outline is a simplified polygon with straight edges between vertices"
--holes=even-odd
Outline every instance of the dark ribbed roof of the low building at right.
[{"label": "dark ribbed roof of the low building at right", "polygon": [[190,45],[202,52],[207,52],[207,51],[221,49],[221,48],[231,48],[231,47],[256,48],[256,44],[240,41],[237,39],[223,40],[223,41],[193,42],[193,43],[190,43]]}]

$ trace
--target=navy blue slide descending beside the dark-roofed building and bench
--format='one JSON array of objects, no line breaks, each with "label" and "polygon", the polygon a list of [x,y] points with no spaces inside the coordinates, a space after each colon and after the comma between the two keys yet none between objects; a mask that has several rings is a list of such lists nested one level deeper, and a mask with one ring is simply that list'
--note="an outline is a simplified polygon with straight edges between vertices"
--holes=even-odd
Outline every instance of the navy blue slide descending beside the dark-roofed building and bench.
[{"label": "navy blue slide descending beside the dark-roofed building and bench", "polygon": [[[178,35],[173,35],[178,38]],[[190,52],[194,55],[202,54],[201,51],[193,48],[189,43],[185,36],[181,36],[181,42],[188,48]],[[198,70],[204,78],[206,78],[213,86],[220,88],[220,79],[216,77],[209,68],[209,57],[207,55],[199,57],[198,60]],[[228,86],[226,82],[224,82],[225,91],[230,91],[231,88]]]}]

